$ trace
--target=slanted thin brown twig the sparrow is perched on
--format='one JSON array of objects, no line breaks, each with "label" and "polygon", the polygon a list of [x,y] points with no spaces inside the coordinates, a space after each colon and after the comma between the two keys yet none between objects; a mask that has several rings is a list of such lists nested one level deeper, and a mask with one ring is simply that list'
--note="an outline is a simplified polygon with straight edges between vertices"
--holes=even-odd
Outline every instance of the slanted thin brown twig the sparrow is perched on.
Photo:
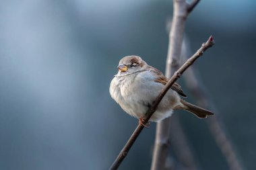
[{"label": "slanted thin brown twig the sparrow is perched on", "polygon": [[[212,36],[210,36],[210,38],[207,40],[207,42],[203,43],[201,48],[199,48],[199,50],[197,50],[197,52],[195,54],[193,54],[193,56],[191,56],[191,58],[189,58],[179,68],[179,70],[174,73],[174,75],[170,78],[168,83],[164,86],[162,91],[159,93],[158,97],[156,97],[156,100],[154,101],[152,106],[148,109],[145,116],[143,116],[143,120],[144,120],[143,122],[147,123],[148,120],[150,120],[150,117],[156,111],[158,104],[160,103],[160,101],[162,100],[162,98],[164,97],[166,92],[173,85],[173,83],[181,77],[181,75],[184,73],[184,71],[187,68],[189,68],[189,66],[193,65],[193,62],[195,62],[195,60],[197,60],[197,58],[199,58],[199,56],[201,56],[203,54],[203,52],[205,52],[205,50],[212,47],[213,45],[214,45],[214,38]],[[143,130],[143,128],[144,127],[141,124],[139,124],[137,126],[137,128],[134,130],[133,134],[131,135],[131,137],[129,138],[129,140],[127,141],[125,146],[123,147],[122,151],[117,156],[117,159],[115,159],[113,165],[111,165],[111,167],[110,167],[111,170],[118,169],[119,165],[121,165],[123,159],[125,159],[125,157],[127,156],[131,146],[133,146],[133,143],[135,142],[135,140],[137,139],[137,137],[139,136],[139,134],[140,134],[141,130]]]}]

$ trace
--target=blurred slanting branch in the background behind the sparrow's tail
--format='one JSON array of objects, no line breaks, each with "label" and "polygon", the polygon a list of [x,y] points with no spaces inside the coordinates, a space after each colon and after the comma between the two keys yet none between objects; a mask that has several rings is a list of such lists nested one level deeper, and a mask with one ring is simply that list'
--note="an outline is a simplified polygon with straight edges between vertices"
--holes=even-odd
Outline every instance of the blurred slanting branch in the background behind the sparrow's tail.
[{"label": "blurred slanting branch in the background behind the sparrow's tail", "polygon": [[214,101],[212,101],[211,97],[207,95],[207,89],[199,79],[199,73],[195,72],[194,68],[189,68],[184,75],[187,87],[191,91],[192,95],[194,95],[199,105],[203,106],[203,108],[211,108],[211,110],[216,114],[216,116],[207,119],[210,131],[212,132],[216,143],[220,147],[222,154],[226,158],[230,170],[241,170],[243,167],[236,157],[231,141],[226,135],[224,124],[222,124],[222,119],[220,118],[221,114],[218,111],[218,108],[216,108]]}]

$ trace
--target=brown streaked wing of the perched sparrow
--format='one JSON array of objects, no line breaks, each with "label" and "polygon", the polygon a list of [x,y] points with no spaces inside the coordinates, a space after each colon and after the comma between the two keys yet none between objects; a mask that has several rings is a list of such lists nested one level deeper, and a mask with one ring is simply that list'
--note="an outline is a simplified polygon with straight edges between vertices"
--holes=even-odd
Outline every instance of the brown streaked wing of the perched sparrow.
[{"label": "brown streaked wing of the perched sparrow", "polygon": [[[158,83],[162,83],[163,85],[166,85],[166,83],[169,81],[169,79],[167,77],[165,77],[161,71],[158,71],[158,69],[154,68],[154,67],[149,67],[148,68],[149,71],[151,71],[152,73],[155,73],[157,75],[156,78],[156,82]],[[170,87],[170,89],[177,91],[177,93],[179,93],[179,95],[183,96],[183,97],[187,97],[187,95],[185,95],[185,93],[183,92],[183,90],[181,89],[181,85],[179,85],[178,83],[174,83],[172,85],[172,87]]]}]

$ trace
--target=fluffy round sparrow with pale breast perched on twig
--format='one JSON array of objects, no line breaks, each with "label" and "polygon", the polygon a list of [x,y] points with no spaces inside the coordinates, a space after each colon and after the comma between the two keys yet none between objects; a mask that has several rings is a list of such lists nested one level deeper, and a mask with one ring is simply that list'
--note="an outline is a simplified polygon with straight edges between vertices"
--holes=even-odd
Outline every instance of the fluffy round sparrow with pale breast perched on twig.
[{"label": "fluffy round sparrow with pale breast perched on twig", "polygon": [[[117,68],[119,71],[110,83],[110,95],[127,114],[139,119],[139,124],[146,126],[142,118],[169,79],[139,56],[123,57]],[[181,97],[187,95],[178,83],[174,83],[160,101],[150,121],[160,122],[170,117],[173,110],[186,110],[198,118],[207,118],[214,114]]]}]

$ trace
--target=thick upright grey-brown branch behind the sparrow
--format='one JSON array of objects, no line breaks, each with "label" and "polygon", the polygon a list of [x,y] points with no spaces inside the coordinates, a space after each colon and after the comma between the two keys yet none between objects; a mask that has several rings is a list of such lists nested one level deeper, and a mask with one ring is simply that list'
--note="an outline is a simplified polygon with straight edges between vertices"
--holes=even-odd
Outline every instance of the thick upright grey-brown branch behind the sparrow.
[{"label": "thick upright grey-brown branch behind the sparrow", "polygon": [[[186,0],[173,0],[174,10],[172,26],[169,32],[168,54],[166,60],[166,77],[168,78],[179,68],[185,22],[187,16],[197,3],[199,3],[199,0],[194,0],[191,4],[188,4]],[[156,140],[151,165],[152,170],[164,169],[170,145],[170,127],[170,118],[166,118],[156,126]],[[182,128],[179,129],[180,132],[183,132]]]}]

